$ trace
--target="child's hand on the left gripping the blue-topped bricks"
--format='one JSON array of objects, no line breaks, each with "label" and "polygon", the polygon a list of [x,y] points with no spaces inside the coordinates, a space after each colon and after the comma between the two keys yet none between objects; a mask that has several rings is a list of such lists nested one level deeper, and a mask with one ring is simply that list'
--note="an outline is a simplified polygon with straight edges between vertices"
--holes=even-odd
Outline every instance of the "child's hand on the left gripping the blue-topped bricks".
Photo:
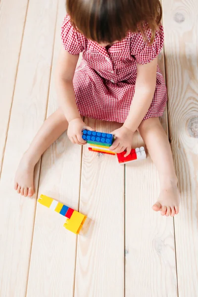
[{"label": "child's hand on the left gripping the blue-topped bricks", "polygon": [[67,136],[72,144],[85,145],[87,142],[82,139],[82,130],[95,131],[83,122],[81,118],[73,119],[69,122]]}]

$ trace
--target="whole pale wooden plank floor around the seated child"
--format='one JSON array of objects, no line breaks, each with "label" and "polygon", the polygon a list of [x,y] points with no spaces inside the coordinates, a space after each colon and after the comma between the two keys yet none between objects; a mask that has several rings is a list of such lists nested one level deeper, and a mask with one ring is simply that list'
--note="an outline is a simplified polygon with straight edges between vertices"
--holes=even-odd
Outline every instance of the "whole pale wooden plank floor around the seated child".
[{"label": "whole pale wooden plank floor around the seated child", "polygon": [[[57,107],[65,8],[64,0],[0,0],[0,297],[198,297],[198,1],[162,4],[162,123],[181,191],[174,219],[151,209],[159,184],[149,157],[118,166],[66,133],[37,165],[34,198],[14,192],[20,157]],[[106,132],[118,126],[86,122]],[[87,233],[65,230],[63,217],[37,204],[40,194],[87,214]]]}]

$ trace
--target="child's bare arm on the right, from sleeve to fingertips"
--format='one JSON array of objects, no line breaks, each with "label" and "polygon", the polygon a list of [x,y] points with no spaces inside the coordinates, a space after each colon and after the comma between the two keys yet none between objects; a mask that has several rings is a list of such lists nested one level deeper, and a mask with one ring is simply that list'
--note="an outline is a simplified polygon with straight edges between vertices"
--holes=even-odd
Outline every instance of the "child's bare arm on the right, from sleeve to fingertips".
[{"label": "child's bare arm on the right, from sleeve to fingertips", "polygon": [[135,94],[131,103],[130,111],[123,126],[112,132],[116,140],[109,148],[116,153],[127,150],[125,156],[131,151],[131,142],[134,132],[144,119],[156,87],[157,58],[148,64],[138,63]]}]

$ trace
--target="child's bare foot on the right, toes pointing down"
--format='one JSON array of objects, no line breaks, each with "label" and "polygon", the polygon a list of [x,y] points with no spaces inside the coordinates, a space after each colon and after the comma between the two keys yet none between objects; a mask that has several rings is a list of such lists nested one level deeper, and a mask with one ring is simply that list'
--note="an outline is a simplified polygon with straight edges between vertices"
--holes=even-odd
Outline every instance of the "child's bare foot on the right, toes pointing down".
[{"label": "child's bare foot on the right, toes pointing down", "polygon": [[174,216],[179,212],[180,194],[176,183],[170,183],[162,187],[157,202],[152,206],[155,211],[161,211],[161,215]]}]

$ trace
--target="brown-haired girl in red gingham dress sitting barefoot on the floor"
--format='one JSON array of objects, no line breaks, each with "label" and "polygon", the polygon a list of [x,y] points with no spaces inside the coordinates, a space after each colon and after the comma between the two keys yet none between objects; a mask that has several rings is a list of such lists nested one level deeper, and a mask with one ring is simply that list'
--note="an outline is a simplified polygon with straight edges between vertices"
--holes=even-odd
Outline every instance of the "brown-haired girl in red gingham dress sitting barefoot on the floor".
[{"label": "brown-haired girl in red gingham dress sitting barefoot on the floor", "polygon": [[[166,87],[157,66],[163,47],[159,0],[67,0],[63,47],[56,71],[60,108],[43,124],[22,157],[14,188],[34,194],[34,167],[43,152],[67,129],[73,144],[84,145],[81,116],[122,123],[111,132],[115,152],[132,148],[138,130],[159,172],[160,194],[153,210],[179,211],[177,177],[168,138],[159,122]],[[76,69],[79,53],[81,65]],[[76,71],[75,71],[76,69]]]}]

